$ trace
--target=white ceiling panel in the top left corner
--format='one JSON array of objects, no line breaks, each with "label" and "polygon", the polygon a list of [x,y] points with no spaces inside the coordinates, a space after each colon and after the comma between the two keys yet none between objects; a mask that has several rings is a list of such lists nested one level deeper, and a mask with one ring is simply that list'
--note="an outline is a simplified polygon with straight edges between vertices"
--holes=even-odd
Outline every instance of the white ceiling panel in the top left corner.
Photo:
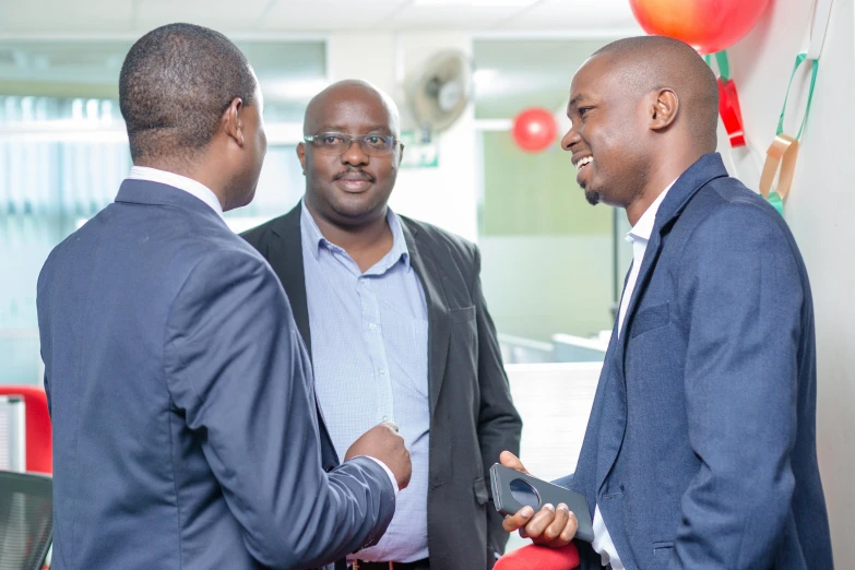
[{"label": "white ceiling panel in the top left corner", "polygon": [[0,0],[0,32],[127,33],[132,14],[132,0]]}]

